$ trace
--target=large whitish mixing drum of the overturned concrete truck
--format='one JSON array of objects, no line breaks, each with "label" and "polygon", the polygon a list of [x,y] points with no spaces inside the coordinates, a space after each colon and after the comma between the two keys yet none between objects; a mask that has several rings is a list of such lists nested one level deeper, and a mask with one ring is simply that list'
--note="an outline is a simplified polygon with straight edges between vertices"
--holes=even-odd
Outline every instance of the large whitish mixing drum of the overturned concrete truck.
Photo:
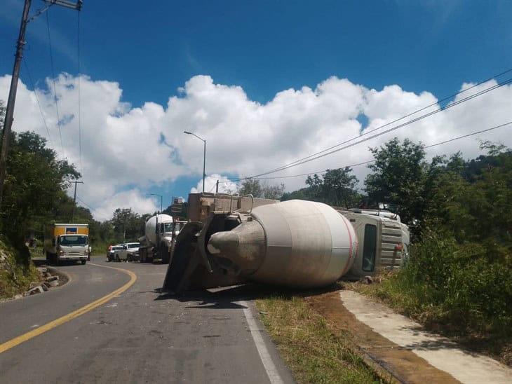
[{"label": "large whitish mixing drum of the overturned concrete truck", "polygon": [[256,207],[231,231],[213,233],[212,256],[229,259],[249,280],[321,287],[352,266],[356,233],[346,217],[323,203],[288,200]]}]

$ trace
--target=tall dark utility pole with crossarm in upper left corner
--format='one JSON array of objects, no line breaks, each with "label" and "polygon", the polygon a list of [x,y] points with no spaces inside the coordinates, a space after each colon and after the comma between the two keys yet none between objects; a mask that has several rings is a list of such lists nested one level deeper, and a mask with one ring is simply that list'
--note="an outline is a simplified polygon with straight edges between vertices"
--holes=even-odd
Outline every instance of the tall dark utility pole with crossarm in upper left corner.
[{"label": "tall dark utility pole with crossarm in upper left corner", "polygon": [[[65,0],[46,0],[46,6],[37,11],[32,18],[29,18],[30,4],[32,0],[25,0],[23,6],[23,13],[21,17],[20,34],[18,35],[18,42],[16,43],[16,55],[14,59],[13,77],[11,78],[11,88],[9,88],[9,96],[7,98],[6,117],[4,120],[4,132],[2,134],[2,146],[0,149],[0,207],[2,197],[4,196],[4,181],[6,180],[6,162],[9,153],[9,144],[11,141],[11,128],[13,127],[14,104],[16,102],[16,92],[18,90],[18,79],[20,78],[21,60],[23,58],[23,48],[27,43],[25,41],[25,31],[27,24],[34,20],[37,16],[48,11],[48,8],[53,5],[63,6],[65,8],[72,8],[80,11],[82,8],[82,0],[72,3]],[[76,186],[76,184],[75,184]]]}]

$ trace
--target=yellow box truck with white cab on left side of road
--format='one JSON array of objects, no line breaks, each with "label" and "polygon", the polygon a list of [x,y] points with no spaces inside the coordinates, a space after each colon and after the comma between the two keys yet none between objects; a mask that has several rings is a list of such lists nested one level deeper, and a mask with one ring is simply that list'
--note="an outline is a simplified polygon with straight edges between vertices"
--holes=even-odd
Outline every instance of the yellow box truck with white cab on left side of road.
[{"label": "yellow box truck with white cab on left side of road", "polygon": [[50,224],[43,247],[48,263],[73,260],[85,264],[90,258],[89,224]]}]

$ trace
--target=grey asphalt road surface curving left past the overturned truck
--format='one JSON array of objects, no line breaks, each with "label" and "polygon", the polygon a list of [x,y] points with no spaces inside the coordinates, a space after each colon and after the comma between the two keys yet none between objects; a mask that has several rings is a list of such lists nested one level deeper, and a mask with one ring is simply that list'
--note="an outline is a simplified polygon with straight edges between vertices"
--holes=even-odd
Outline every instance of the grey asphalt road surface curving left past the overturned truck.
[{"label": "grey asphalt road surface curving left past the overturned truck", "polygon": [[[167,266],[60,266],[72,280],[0,303],[0,345],[130,282],[125,292],[0,353],[2,383],[290,383],[257,320],[250,287],[161,296]],[[133,280],[133,279],[131,279]],[[253,318],[254,317],[254,318]]]}]

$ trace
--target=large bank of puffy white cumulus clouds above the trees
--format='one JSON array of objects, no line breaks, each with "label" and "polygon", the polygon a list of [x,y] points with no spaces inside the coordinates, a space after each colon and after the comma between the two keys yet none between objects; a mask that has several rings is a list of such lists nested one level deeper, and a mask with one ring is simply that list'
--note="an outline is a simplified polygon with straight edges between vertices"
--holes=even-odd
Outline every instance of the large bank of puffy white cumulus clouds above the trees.
[{"label": "large bank of puffy white cumulus clouds above the trees", "polygon": [[[10,76],[0,77],[1,100],[7,98],[9,82]],[[46,87],[35,91],[20,81],[13,129],[34,130],[48,137],[37,96],[50,130],[50,146],[83,174],[85,184],[79,186],[79,196],[93,207],[97,219],[110,217],[116,207],[153,212],[156,204],[147,196],[148,188],[172,184],[182,176],[197,175],[200,179],[203,144],[195,137],[184,135],[183,130],[206,139],[210,174],[206,179],[206,191],[210,191],[214,190],[217,179],[227,181],[223,174],[244,177],[272,170],[358,137],[365,128],[358,116],[368,118],[368,127],[363,130],[368,132],[438,101],[428,90],[417,94],[407,92],[399,85],[375,90],[348,79],[330,77],[316,88],[282,90],[262,104],[250,100],[239,86],[217,84],[210,76],[194,76],[177,91],[177,95],[169,98],[166,106],[148,101],[142,107],[132,107],[123,102],[119,83],[88,76],[82,76],[80,83],[81,157],[78,79],[74,76],[60,74],[55,79],[63,150],[49,78]],[[496,81],[489,81],[457,96],[454,101],[493,84]],[[464,83],[461,89],[471,85]],[[409,137],[429,145],[490,128],[512,121],[511,102],[512,85],[505,85],[389,134],[269,176],[290,176],[361,163],[371,159],[368,146],[382,145],[393,136]],[[417,115],[411,116],[415,117]],[[479,137],[511,146],[510,132],[508,128],[501,128]],[[436,146],[428,154],[461,150],[466,157],[478,156],[476,138]],[[362,180],[368,170],[355,167],[354,172]],[[304,186],[304,179],[297,177],[282,181],[290,191]],[[269,180],[270,183],[274,181],[281,182]],[[220,191],[235,189],[234,184],[220,185]],[[201,190],[202,179],[191,188],[191,191]]]}]

